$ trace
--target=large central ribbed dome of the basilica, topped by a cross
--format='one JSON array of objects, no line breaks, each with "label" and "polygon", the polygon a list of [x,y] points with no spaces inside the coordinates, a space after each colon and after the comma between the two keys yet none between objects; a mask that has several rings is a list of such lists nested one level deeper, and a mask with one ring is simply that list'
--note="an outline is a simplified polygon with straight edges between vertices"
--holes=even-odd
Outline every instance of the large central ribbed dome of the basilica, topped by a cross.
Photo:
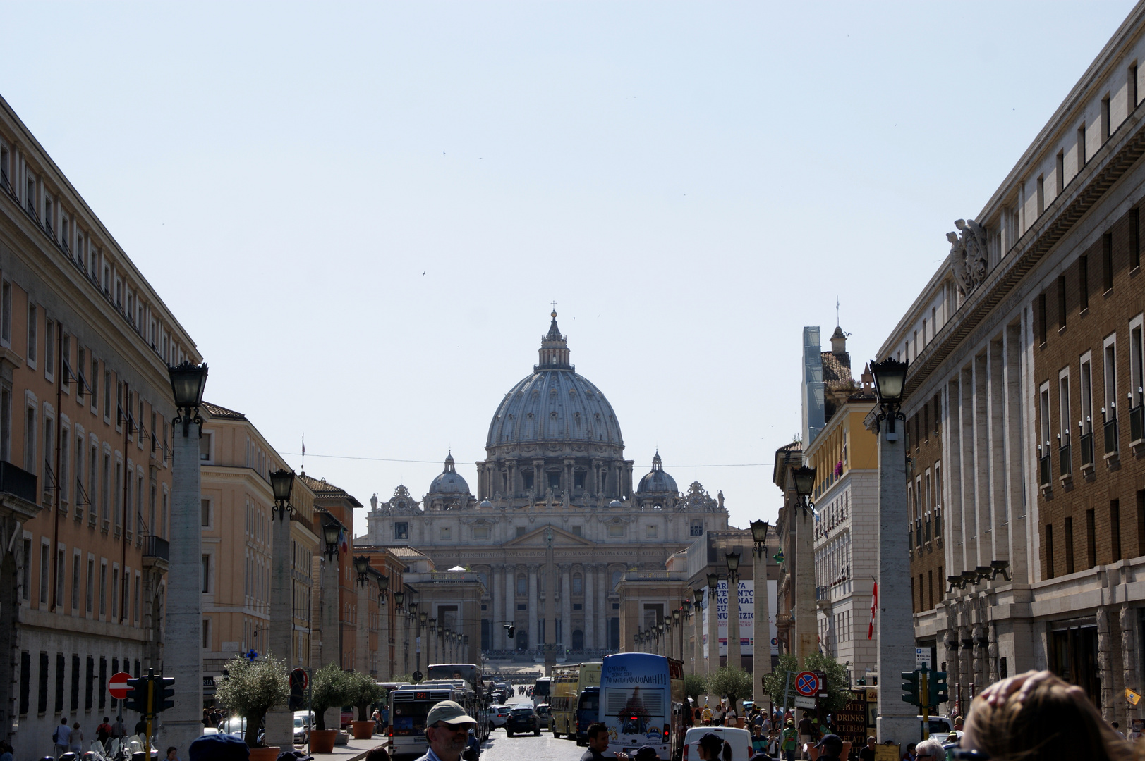
[{"label": "large central ribbed dome of the basilica, topped by a cross", "polygon": [[548,333],[542,338],[540,362],[505,395],[489,425],[485,446],[545,442],[624,446],[613,405],[569,364],[555,311],[552,318]]}]

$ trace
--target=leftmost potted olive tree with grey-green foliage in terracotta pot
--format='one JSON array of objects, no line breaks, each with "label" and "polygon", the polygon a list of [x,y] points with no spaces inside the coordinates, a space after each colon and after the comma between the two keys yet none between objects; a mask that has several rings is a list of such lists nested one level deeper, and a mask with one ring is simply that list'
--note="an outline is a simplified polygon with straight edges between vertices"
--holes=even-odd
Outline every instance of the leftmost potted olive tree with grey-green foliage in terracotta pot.
[{"label": "leftmost potted olive tree with grey-green foliage in terracotta pot", "polygon": [[259,730],[267,712],[285,704],[290,698],[286,664],[273,656],[262,656],[254,660],[236,656],[224,668],[230,675],[219,687],[215,698],[227,706],[231,714],[246,720],[243,739],[251,748],[252,761],[277,759],[278,746],[262,746],[259,742]]}]

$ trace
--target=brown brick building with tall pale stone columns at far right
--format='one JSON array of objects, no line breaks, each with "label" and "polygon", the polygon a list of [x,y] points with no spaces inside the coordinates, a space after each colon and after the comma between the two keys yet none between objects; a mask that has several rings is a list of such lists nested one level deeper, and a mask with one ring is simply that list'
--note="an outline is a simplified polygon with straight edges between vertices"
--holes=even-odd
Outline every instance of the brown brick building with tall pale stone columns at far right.
[{"label": "brown brick building with tall pale stone columns at far right", "polygon": [[956,710],[1049,668],[1108,719],[1136,715],[1121,696],[1142,687],[1145,609],[1143,57],[1138,5],[955,221],[878,352],[910,363],[915,633]]}]

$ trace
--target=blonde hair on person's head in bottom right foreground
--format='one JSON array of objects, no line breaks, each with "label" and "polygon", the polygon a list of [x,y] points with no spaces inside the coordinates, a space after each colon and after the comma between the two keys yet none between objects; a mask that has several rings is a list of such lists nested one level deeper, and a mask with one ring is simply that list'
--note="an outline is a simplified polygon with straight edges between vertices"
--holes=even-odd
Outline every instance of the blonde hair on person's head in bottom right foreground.
[{"label": "blonde hair on person's head in bottom right foreground", "polygon": [[[1021,674],[1027,680],[1035,672]],[[1039,673],[1030,689],[995,691],[970,705],[963,746],[1006,761],[1129,761],[1131,750],[1076,685]]]}]

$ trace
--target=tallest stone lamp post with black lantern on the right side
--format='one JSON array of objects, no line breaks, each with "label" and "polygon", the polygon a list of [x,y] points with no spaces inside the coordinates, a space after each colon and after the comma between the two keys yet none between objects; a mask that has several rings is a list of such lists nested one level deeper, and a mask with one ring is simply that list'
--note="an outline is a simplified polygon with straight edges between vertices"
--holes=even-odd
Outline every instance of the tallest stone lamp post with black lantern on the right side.
[{"label": "tallest stone lamp post with black lantern on the right side", "polygon": [[[915,667],[915,627],[911,616],[910,541],[907,510],[907,457],[905,442],[895,430],[907,380],[907,363],[893,358],[872,362],[878,396],[874,428],[878,433],[878,610],[875,637],[878,673],[885,680]],[[886,426],[882,426],[883,421]],[[885,428],[885,429],[884,429]],[[887,619],[890,616],[890,620]],[[915,707],[878,691],[878,742],[907,743],[918,732]],[[885,693],[885,695],[884,695]]]}]

